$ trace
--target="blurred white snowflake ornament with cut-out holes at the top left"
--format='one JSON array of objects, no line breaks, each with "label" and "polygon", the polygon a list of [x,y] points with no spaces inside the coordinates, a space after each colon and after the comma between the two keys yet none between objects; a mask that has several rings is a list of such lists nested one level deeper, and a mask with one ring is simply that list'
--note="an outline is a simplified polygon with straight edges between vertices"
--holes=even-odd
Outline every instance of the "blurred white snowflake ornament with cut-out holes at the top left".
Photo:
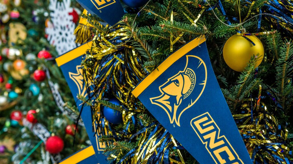
[{"label": "blurred white snowflake ornament with cut-out holes at the top left", "polygon": [[74,42],[75,23],[72,22],[72,15],[69,15],[73,8],[70,5],[71,0],[63,0],[62,2],[50,0],[49,9],[53,26],[46,27],[45,32],[48,34],[48,41],[55,46],[59,55],[76,47]]}]

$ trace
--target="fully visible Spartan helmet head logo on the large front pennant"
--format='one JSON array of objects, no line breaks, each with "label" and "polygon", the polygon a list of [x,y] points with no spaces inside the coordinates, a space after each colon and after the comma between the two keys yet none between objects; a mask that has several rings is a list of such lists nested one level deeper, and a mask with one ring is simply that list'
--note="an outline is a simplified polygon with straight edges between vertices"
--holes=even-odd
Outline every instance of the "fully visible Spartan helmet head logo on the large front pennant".
[{"label": "fully visible Spartan helmet head logo on the large front pennant", "polygon": [[[205,62],[194,55],[186,55],[186,58],[185,69],[159,86],[160,96],[150,98],[152,104],[166,111],[170,123],[175,121],[178,126],[180,116],[200,98],[207,82]],[[200,72],[198,77],[195,72]]]}]

